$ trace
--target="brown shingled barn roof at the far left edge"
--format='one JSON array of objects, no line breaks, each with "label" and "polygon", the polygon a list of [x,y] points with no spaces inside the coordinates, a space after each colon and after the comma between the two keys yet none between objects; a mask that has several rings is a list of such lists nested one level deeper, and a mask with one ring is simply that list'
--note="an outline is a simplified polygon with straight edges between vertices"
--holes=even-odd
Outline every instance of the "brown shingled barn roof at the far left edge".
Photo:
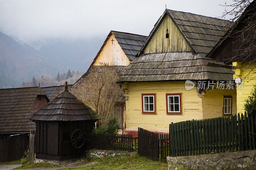
[{"label": "brown shingled barn roof at the far left edge", "polygon": [[47,95],[40,87],[0,89],[0,133],[29,132],[36,125],[29,120],[37,95]]}]

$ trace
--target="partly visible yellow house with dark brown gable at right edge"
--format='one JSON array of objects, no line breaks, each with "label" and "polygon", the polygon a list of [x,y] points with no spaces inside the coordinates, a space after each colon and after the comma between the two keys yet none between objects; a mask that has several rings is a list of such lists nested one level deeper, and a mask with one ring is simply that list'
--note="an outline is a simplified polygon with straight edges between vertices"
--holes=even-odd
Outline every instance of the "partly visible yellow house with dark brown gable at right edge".
[{"label": "partly visible yellow house with dark brown gable at right edge", "polygon": [[[215,48],[207,55],[207,57],[216,59],[216,61],[225,62],[233,65],[233,78],[237,82],[241,82],[240,88],[236,90],[237,112],[244,113],[245,99],[251,95],[253,85],[256,84],[256,54],[255,45],[252,47],[250,43],[243,43],[241,37],[249,39],[248,31],[244,33],[251,25],[256,22],[256,1],[254,0],[243,12],[232,26],[232,28],[222,37],[220,43],[216,44]],[[255,29],[255,28],[254,28]],[[239,53],[239,49],[249,50]],[[254,48],[250,50],[250,47]]]}]

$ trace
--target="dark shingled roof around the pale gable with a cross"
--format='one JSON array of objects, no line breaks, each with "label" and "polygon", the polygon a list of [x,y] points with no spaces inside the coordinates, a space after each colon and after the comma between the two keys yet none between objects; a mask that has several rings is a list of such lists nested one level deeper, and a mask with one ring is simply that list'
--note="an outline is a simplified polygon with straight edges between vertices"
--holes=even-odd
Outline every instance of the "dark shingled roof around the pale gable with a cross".
[{"label": "dark shingled roof around the pale gable with a cross", "polygon": [[100,52],[102,51],[103,47],[105,46],[109,37],[112,34],[115,36],[116,41],[121,46],[125,55],[128,57],[128,59],[130,61],[134,60],[135,55],[139,52],[140,48],[142,47],[142,45],[144,44],[144,42],[147,39],[147,36],[144,36],[144,35],[124,33],[124,32],[119,32],[119,31],[110,31],[106,40],[104,41],[103,45],[101,46],[100,51],[94,58],[91,66],[93,65],[93,63],[95,63],[97,57],[100,55]]}]

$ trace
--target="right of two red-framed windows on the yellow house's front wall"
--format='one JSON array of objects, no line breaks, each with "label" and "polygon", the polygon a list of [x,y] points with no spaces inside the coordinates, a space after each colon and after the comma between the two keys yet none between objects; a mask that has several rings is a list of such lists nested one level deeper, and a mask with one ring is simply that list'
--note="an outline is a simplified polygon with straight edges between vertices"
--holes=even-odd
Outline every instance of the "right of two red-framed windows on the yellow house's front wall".
[{"label": "right of two red-framed windows on the yellow house's front wall", "polygon": [[167,93],[166,94],[166,114],[167,115],[181,115],[181,93]]}]

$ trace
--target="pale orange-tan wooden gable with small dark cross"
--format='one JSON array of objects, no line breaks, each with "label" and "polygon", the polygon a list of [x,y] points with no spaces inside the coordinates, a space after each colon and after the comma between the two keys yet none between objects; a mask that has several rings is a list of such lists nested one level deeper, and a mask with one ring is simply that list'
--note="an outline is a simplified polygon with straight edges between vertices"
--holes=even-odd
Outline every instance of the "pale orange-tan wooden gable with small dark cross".
[{"label": "pale orange-tan wooden gable with small dark cross", "polygon": [[[114,40],[113,44],[111,41],[112,39]],[[130,63],[113,34],[109,37],[93,65],[99,66],[101,65],[100,63],[108,63],[109,65],[117,66],[127,66]]]}]

